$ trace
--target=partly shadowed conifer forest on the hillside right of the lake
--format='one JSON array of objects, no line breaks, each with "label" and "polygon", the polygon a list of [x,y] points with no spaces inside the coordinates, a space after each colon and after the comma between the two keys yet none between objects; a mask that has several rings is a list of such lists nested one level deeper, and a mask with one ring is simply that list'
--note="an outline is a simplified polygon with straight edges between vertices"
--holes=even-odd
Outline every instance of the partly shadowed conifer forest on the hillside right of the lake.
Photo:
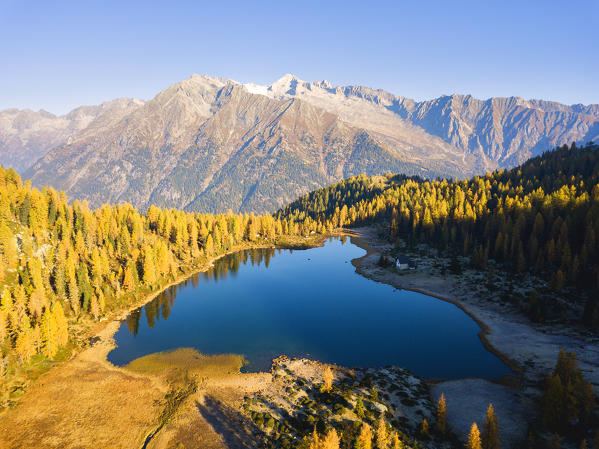
[{"label": "partly shadowed conifer forest on the hillside right of the lake", "polygon": [[[599,327],[599,146],[562,146],[512,170],[469,180],[364,175],[313,191],[277,219],[318,228],[382,224],[391,241],[427,243],[441,254],[489,261],[517,276],[536,275]],[[532,318],[546,298],[531,292]]]}]

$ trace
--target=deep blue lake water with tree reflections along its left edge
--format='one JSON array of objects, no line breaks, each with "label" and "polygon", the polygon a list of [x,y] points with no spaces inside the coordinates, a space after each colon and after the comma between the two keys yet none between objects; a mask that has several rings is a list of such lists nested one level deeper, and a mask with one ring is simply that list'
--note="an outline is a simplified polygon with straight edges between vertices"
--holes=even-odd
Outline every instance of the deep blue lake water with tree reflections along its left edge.
[{"label": "deep blue lake water with tree reflections along its left edge", "polygon": [[496,379],[510,373],[448,302],[355,272],[365,254],[347,238],[309,250],[256,249],[226,256],[133,312],[108,355],[116,365],[193,347],[243,354],[248,371],[281,354],[348,367],[396,365],[425,378]]}]

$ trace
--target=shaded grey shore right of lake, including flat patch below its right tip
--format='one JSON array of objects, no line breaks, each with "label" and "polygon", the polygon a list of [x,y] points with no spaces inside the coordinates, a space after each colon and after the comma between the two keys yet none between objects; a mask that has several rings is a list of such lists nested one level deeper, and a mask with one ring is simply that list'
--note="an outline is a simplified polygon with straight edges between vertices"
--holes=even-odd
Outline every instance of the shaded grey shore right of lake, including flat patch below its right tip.
[{"label": "shaded grey shore right of lake, including flat patch below its right tip", "polygon": [[[501,358],[518,375],[518,381],[504,379],[463,379],[431,385],[433,399],[445,393],[449,424],[459,435],[466,435],[472,422],[484,420],[486,406],[493,403],[501,423],[503,447],[514,447],[526,436],[534,416],[534,401],[540,392],[539,381],[553,370],[560,349],[577,354],[580,368],[599,392],[599,339],[584,331],[556,325],[537,325],[498,302],[489,301],[461,276],[438,275],[424,268],[399,273],[378,266],[381,252],[390,250],[376,230],[354,230],[352,242],[367,251],[352,261],[356,271],[372,280],[397,288],[425,293],[449,301],[470,315],[481,326],[485,347]],[[426,267],[426,264],[423,264]]]}]

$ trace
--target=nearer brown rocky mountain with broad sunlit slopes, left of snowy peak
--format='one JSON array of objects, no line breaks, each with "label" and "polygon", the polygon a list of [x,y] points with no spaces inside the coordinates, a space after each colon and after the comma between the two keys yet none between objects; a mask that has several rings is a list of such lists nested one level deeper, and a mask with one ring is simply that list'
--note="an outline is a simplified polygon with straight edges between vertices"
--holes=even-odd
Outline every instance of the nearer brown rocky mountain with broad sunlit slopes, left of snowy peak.
[{"label": "nearer brown rocky mountain with broad sunlit slopes, left of snowy peak", "polygon": [[474,159],[348,125],[302,100],[193,76],[121,120],[90,126],[26,175],[91,205],[127,201],[265,212],[358,173],[464,176]]}]

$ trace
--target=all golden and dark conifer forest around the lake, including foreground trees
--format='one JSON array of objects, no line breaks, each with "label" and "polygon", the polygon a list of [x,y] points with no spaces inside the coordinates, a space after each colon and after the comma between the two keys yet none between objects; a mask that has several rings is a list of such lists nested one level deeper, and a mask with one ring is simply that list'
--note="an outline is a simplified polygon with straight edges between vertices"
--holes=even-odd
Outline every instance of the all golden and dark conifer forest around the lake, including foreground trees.
[{"label": "all golden and dark conifer forest around the lake, including foreground trees", "polygon": [[[129,204],[92,210],[86,202],[69,202],[63,192],[32,188],[14,170],[0,167],[0,378],[5,382],[35,361],[60,359],[69,346],[82,344],[90,324],[226,252],[285,246],[294,236],[372,224],[382,227],[391,242],[426,243],[440,254],[468,258],[478,270],[493,264],[514,276],[543,278],[579,303],[584,325],[599,327],[597,145],[563,146],[518,168],[469,180],[360,175],[260,216],[156,206],[142,213]],[[252,261],[256,256],[243,254]],[[272,254],[265,254],[268,262]],[[161,299],[161,313],[168,313],[172,298],[164,293]],[[530,300],[541,301],[533,295]],[[133,313],[127,321],[133,333],[138,320]],[[541,429],[580,439],[596,425],[595,396],[574,354],[561,353],[555,371],[540,384]],[[445,407],[443,399],[438,428],[430,432],[444,434]],[[482,433],[473,425],[468,447],[497,447],[489,410]],[[408,444],[374,418],[370,424],[345,432],[353,435],[348,444]],[[427,438],[428,426],[423,423],[421,437]],[[341,438],[336,432],[313,433],[302,443],[336,448]],[[531,435],[532,446],[539,443],[535,438],[544,438]]]}]

